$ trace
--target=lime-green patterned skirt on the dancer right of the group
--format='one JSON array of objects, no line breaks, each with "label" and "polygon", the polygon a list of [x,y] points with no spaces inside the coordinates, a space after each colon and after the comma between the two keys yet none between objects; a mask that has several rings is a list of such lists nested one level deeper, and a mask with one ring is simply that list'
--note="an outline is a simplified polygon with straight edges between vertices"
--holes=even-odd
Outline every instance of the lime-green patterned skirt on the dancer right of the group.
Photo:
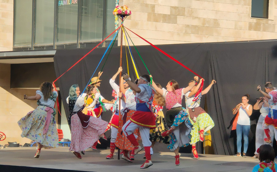
[{"label": "lime-green patterned skirt on the dancer right of the group", "polygon": [[207,113],[201,113],[200,115],[198,115],[195,123],[192,121],[191,118],[189,119],[191,121],[191,124],[193,124],[193,129],[191,130],[191,144],[199,141],[200,129],[204,129],[204,135],[206,135],[205,133],[215,126],[214,121]]}]

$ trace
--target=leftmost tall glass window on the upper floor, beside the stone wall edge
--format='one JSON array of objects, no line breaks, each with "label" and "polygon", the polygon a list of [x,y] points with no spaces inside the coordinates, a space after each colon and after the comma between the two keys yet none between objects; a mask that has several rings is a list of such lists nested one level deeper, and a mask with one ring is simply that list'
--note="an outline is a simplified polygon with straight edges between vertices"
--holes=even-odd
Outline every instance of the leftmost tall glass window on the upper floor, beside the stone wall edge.
[{"label": "leftmost tall glass window on the upper floor, beside the stone wall edge", "polygon": [[31,45],[32,0],[14,0],[14,46]]}]

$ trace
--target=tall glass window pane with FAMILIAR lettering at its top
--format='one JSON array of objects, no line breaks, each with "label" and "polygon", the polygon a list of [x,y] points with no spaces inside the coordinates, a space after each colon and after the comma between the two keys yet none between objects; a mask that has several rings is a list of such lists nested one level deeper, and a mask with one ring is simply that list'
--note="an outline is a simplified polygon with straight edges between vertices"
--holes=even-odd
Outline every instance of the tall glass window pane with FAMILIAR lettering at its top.
[{"label": "tall glass window pane with FAMILIAR lettering at its top", "polygon": [[57,2],[57,43],[77,42],[78,1]]}]

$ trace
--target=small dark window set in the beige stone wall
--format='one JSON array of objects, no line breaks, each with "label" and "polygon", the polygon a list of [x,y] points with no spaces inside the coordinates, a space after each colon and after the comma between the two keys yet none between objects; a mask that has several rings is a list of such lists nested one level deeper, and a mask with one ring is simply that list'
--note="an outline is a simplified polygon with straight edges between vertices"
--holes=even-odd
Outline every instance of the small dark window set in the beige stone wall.
[{"label": "small dark window set in the beige stone wall", "polygon": [[251,17],[268,18],[269,0],[252,0]]}]

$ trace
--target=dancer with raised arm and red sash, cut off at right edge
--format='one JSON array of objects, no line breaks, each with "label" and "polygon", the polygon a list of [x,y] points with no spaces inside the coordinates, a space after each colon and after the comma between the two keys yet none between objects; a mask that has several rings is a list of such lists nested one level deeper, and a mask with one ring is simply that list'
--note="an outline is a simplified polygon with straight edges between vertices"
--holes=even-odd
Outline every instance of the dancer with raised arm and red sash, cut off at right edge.
[{"label": "dancer with raised arm and red sash, cut off at right edge", "polygon": [[274,127],[274,133],[275,133],[275,140],[277,140],[277,90],[273,87],[271,82],[267,82],[264,85],[265,92],[261,90],[261,87],[258,86],[258,90],[266,96],[269,100],[269,113],[264,118],[264,125],[263,129],[265,134],[267,135],[267,138],[264,139],[265,142],[271,143],[271,137],[270,137],[270,129],[269,126],[272,125]]}]

